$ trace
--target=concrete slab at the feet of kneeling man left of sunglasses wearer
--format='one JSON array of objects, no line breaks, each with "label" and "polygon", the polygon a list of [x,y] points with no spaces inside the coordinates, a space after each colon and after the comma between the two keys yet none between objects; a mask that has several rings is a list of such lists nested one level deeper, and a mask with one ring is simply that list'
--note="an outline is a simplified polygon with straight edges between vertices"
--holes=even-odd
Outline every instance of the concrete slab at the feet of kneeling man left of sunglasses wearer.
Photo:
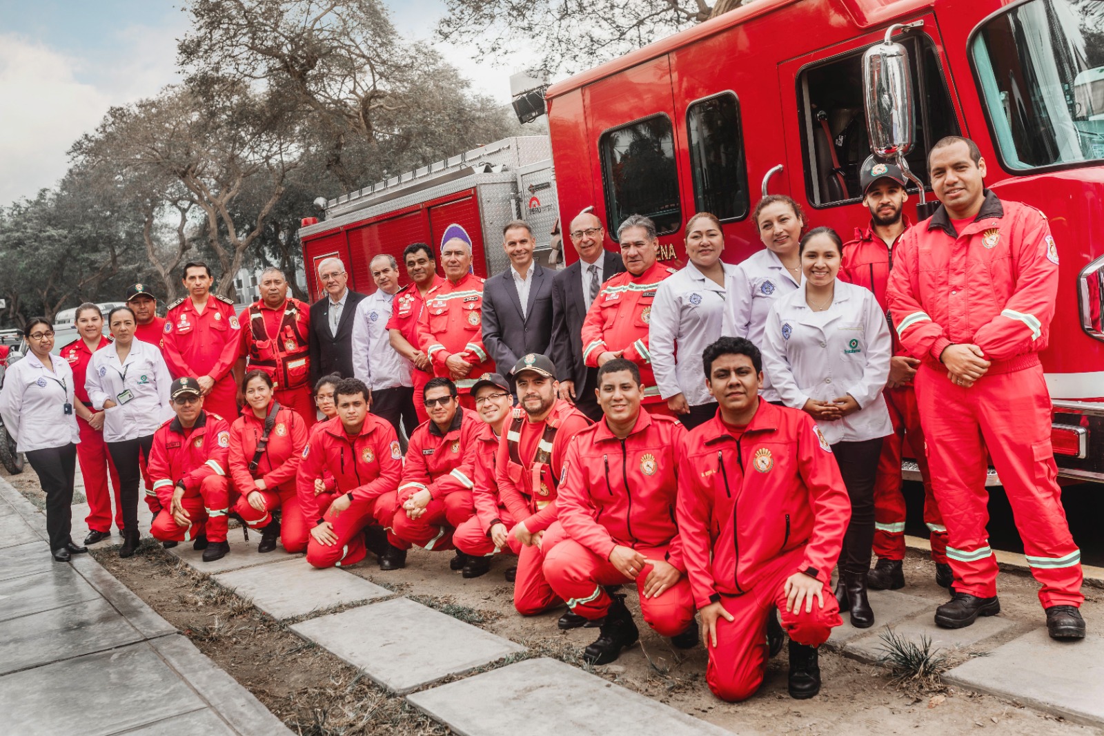
[{"label": "concrete slab at the feet of kneeling man left of sunglasses wearer", "polygon": [[343,603],[393,595],[386,588],[337,567],[317,569],[301,558],[214,576],[275,619],[306,616]]}]

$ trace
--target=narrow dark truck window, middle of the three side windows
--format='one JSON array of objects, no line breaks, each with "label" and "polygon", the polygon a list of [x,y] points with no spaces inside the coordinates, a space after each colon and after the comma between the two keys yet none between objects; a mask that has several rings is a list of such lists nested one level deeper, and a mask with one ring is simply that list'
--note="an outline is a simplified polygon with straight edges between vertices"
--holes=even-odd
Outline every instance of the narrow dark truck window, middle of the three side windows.
[{"label": "narrow dark truck window, middle of the three side windows", "polygon": [[731,92],[687,108],[694,207],[722,221],[747,215],[747,165],[740,103]]}]

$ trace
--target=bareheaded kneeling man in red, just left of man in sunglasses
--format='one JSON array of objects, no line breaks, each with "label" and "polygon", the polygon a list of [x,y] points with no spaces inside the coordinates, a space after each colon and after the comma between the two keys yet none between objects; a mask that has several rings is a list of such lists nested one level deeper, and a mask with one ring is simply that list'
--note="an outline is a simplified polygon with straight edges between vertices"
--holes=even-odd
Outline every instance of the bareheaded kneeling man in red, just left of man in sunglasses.
[{"label": "bareheaded kneeling man in red, just left of man in sunglasses", "polygon": [[[403,453],[391,423],[368,413],[368,387],[343,378],[333,388],[335,419],[322,422],[302,450],[296,490],[310,528],[307,561],[343,567],[364,559],[364,527],[380,496],[399,488]],[[327,508],[318,504],[315,481],[333,476],[336,492]]]}]

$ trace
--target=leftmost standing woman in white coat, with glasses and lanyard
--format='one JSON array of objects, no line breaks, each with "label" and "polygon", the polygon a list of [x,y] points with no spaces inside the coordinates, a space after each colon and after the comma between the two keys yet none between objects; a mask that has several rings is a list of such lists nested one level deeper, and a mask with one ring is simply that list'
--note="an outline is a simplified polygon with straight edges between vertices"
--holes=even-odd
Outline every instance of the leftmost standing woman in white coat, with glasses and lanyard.
[{"label": "leftmost standing woman in white coat, with glasses and lanyard", "polygon": [[88,551],[70,536],[76,443],[81,441],[73,410],[73,369],[64,358],[50,354],[53,325],[33,317],[23,332],[30,354],[8,368],[0,391],[0,417],[15,440],[15,450],[26,453],[39,474],[46,494],[50,550],[59,562],[67,562],[72,555]]}]

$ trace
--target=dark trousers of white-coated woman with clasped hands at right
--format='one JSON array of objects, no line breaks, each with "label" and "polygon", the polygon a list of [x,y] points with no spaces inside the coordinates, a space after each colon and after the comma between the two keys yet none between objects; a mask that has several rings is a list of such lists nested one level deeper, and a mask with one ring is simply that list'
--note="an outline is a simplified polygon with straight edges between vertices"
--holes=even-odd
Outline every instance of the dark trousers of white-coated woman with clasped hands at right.
[{"label": "dark trousers of white-coated woman with clasped hands at right", "polygon": [[860,442],[837,442],[831,446],[843,476],[847,495],[851,498],[851,521],[843,535],[839,569],[866,572],[870,569],[870,550],[874,545],[874,479],[878,459],[882,454],[882,438]]}]

